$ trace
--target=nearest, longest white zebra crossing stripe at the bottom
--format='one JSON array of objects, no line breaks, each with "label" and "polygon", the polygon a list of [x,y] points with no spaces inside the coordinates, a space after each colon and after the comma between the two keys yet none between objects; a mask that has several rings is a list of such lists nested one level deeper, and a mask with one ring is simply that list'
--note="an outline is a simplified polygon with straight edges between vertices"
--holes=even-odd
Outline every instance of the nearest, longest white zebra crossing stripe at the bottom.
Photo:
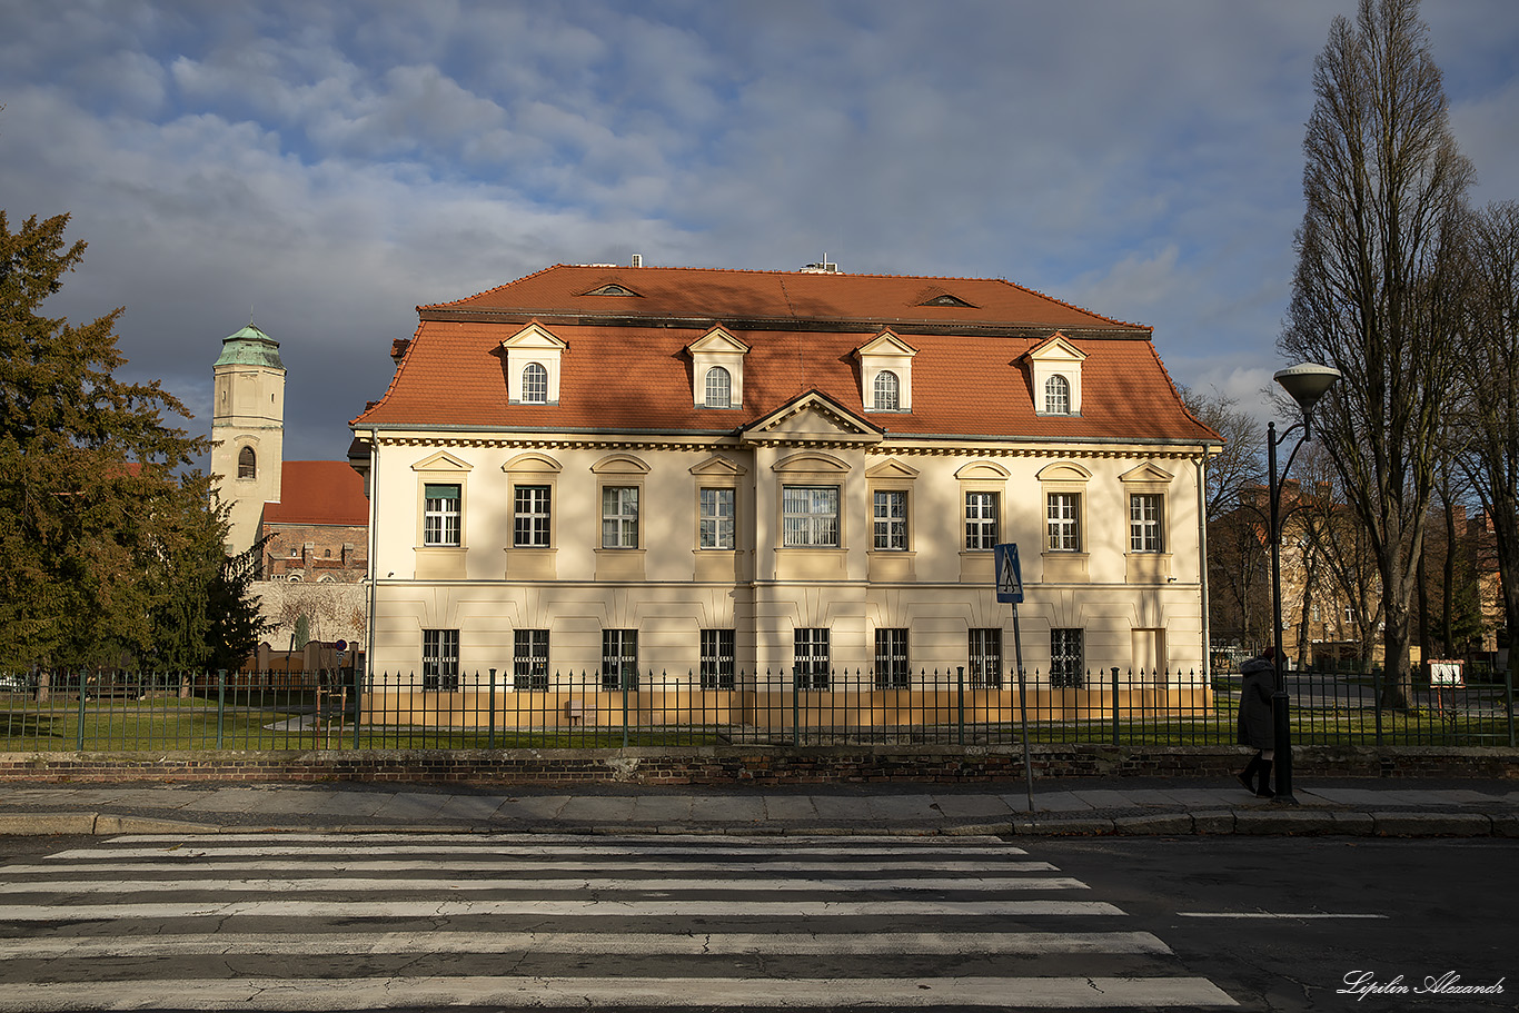
[{"label": "nearest, longest white zebra crossing stripe at the bottom", "polygon": [[339,1010],[441,1005],[766,1007],[1001,1010],[1238,1005],[1206,978],[258,978],[243,981],[70,981],[11,984],[0,1013],[163,1008],[194,996],[199,1010]]}]

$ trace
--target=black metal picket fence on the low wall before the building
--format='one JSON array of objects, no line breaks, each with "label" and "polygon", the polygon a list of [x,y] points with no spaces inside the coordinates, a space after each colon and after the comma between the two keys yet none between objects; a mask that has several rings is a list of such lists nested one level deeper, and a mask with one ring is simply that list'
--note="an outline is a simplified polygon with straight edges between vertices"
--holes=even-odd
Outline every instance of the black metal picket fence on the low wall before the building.
[{"label": "black metal picket fence on the low wall before the building", "polygon": [[[1240,677],[965,668],[377,673],[0,673],[0,752],[553,749],[861,743],[1112,746],[1235,741]],[[1416,686],[1290,671],[1297,744],[1513,746],[1507,683]]]}]

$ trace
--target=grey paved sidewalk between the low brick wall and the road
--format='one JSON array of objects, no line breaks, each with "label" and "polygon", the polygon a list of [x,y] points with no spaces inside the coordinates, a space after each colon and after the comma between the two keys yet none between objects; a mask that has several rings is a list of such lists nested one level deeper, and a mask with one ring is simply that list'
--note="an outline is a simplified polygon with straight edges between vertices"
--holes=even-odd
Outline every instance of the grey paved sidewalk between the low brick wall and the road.
[{"label": "grey paved sidewalk between the low brick wall and the road", "polygon": [[[1227,779],[1226,779],[1227,781]],[[1519,837],[1519,782],[1296,782],[1297,805],[1232,782],[715,787],[0,782],[0,835],[456,834],[1343,834]]]}]

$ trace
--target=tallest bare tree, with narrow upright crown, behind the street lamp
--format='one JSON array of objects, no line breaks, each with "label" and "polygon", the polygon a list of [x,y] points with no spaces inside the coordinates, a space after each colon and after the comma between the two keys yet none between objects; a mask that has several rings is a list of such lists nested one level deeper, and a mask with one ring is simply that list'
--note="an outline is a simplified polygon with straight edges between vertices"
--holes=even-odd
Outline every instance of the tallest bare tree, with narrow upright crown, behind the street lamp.
[{"label": "tallest bare tree, with narrow upright crown, behind the street lamp", "polygon": [[1463,199],[1472,164],[1449,128],[1445,88],[1416,0],[1361,0],[1335,18],[1314,64],[1303,140],[1306,213],[1281,349],[1340,371],[1318,409],[1346,498],[1372,539],[1382,585],[1384,703],[1404,706],[1435,436],[1457,380]]}]

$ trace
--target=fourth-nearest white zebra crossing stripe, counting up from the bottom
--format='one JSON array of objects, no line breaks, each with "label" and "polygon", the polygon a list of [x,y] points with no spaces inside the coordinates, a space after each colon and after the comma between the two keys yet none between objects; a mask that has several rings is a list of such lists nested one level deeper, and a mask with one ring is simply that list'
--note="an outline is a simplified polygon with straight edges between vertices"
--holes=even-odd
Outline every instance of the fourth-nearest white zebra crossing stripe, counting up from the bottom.
[{"label": "fourth-nearest white zebra crossing stripe, counting up from the bottom", "polygon": [[[687,869],[681,869],[682,876]],[[790,879],[790,878],[722,878],[706,882],[690,879],[620,879],[611,876],[570,876],[539,879],[521,875],[512,879],[365,879],[358,876],[287,876],[281,879],[59,879],[32,882],[0,882],[5,893],[166,893],[173,890],[210,890],[216,893],[314,893],[325,890],[366,890],[386,893],[407,892],[480,892],[532,890],[533,893],[565,893],[583,890],[659,890],[679,896],[711,890],[764,890],[766,893],[840,893],[881,890],[905,893],[913,890],[955,890],[962,893],[990,890],[1086,890],[1086,884],[1071,876],[992,878],[965,876],[957,879]]]}]

